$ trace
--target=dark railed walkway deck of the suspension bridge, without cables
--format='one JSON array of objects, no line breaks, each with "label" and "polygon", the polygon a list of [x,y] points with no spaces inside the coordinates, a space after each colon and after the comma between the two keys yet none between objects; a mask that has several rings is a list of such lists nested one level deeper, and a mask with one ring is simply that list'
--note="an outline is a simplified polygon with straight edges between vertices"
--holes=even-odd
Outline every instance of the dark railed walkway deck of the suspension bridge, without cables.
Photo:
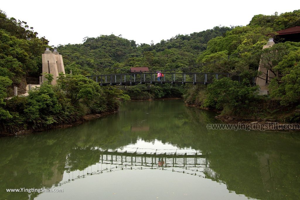
[{"label": "dark railed walkway deck of the suspension bridge, without cables", "polygon": [[155,72],[138,72],[125,74],[104,74],[86,76],[101,86],[106,85],[135,85],[135,84],[210,84],[215,79],[224,77],[231,78],[234,81],[241,81],[239,75],[230,73],[177,73],[165,72],[159,79]]}]

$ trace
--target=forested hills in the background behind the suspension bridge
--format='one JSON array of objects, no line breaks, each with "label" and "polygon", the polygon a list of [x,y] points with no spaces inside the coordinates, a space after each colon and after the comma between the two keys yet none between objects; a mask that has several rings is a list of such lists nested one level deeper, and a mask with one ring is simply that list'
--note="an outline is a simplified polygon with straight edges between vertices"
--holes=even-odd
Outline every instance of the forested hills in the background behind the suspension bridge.
[{"label": "forested hills in the background behind the suspension bridge", "polygon": [[79,68],[79,73],[85,75],[116,72],[103,71],[105,68],[101,65],[119,69],[137,66],[146,66],[152,70],[174,69],[195,64],[198,55],[206,49],[207,42],[214,37],[224,36],[228,30],[231,28],[214,27],[190,35],[179,34],[170,40],[161,40],[151,45],[136,44],[134,40],[122,36],[101,35],[85,38],[83,44],[58,46],[58,51],[64,55],[66,72],[70,69],[74,72]]}]

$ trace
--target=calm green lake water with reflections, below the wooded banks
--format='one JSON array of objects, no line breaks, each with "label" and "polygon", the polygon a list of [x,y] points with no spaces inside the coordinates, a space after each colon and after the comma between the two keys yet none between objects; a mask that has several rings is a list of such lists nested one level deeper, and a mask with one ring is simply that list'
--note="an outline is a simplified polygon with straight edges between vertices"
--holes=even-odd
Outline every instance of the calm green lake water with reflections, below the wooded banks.
[{"label": "calm green lake water with reflections, below the wooded banks", "polygon": [[[300,133],[207,130],[182,100],[0,138],[0,199],[300,199]],[[176,154],[175,154],[176,153]],[[52,188],[63,192],[7,192]]]}]

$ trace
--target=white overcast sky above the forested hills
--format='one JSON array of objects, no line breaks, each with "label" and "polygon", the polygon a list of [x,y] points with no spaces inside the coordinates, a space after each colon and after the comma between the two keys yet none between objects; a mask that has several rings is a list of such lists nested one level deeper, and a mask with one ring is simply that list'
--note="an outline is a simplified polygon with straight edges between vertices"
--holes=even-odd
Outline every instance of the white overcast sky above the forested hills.
[{"label": "white overcast sky above the forested hills", "polygon": [[[297,3],[298,2],[298,3]],[[140,43],[158,43],[177,34],[214,26],[247,25],[257,14],[300,9],[298,0],[285,1],[1,1],[8,17],[27,22],[49,45],[82,43],[84,37],[122,35]]]}]

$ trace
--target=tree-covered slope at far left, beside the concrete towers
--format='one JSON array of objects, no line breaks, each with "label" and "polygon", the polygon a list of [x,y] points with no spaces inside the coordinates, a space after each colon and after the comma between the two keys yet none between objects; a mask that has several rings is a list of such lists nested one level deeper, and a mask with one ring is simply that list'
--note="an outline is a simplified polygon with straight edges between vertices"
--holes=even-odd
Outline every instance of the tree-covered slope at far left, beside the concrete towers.
[{"label": "tree-covered slope at far left, beside the concrete towers", "polygon": [[15,86],[25,75],[41,73],[41,53],[48,40],[37,34],[26,22],[8,19],[0,10],[0,76],[10,78]]}]

